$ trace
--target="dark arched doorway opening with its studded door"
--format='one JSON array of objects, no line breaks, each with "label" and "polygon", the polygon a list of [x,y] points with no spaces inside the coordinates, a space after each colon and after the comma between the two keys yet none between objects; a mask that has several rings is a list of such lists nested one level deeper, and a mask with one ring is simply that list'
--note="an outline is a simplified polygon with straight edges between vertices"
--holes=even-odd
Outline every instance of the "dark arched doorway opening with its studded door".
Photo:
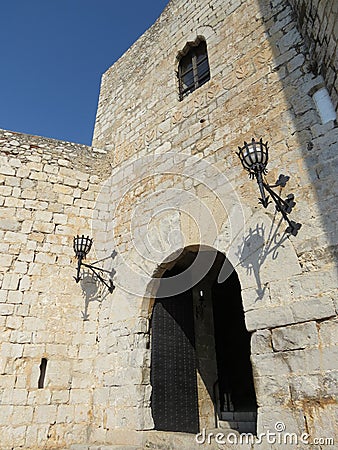
[{"label": "dark arched doorway opening with its studded door", "polygon": [[[202,255],[208,263],[211,257],[213,263],[196,286],[165,297],[160,283],[151,320],[151,407],[156,430],[197,433],[210,424],[202,417],[205,395],[210,399],[213,427],[224,414],[257,411],[240,282],[232,269],[218,283],[221,268],[230,263],[222,253],[210,250],[199,252],[199,258]],[[162,278],[175,282],[175,275],[183,272],[193,277],[196,255],[186,250]],[[235,417],[226,420],[233,422]]]}]

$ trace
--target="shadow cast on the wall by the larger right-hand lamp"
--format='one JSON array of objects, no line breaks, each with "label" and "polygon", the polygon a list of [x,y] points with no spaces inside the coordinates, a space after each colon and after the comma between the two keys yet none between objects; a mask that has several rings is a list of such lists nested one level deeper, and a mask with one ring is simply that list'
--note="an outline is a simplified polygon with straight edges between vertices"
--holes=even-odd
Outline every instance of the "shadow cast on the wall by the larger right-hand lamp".
[{"label": "shadow cast on the wall by the larger right-hand lamp", "polygon": [[247,274],[253,274],[256,280],[256,301],[264,297],[267,288],[260,276],[262,265],[270,255],[272,260],[277,259],[278,249],[283,247],[289,237],[285,232],[280,233],[281,226],[283,226],[283,220],[280,219],[276,224],[275,214],[269,231],[264,224],[257,224],[255,228],[250,227],[248,234],[243,237],[242,243],[238,246],[236,256],[240,264],[247,270]]}]

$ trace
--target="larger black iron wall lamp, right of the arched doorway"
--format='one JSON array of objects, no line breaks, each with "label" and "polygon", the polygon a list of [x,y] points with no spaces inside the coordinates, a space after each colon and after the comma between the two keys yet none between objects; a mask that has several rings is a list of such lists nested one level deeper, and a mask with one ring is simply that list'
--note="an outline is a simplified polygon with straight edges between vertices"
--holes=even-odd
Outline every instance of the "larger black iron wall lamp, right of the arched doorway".
[{"label": "larger black iron wall lamp, right of the arched doorway", "polygon": [[268,184],[264,179],[264,175],[267,174],[266,166],[269,160],[268,143],[266,142],[264,144],[262,138],[259,141],[255,141],[255,139],[252,138],[250,143],[244,141],[244,146],[238,148],[239,152],[237,155],[239,156],[244,169],[249,172],[251,179],[256,178],[257,180],[261,194],[259,203],[261,203],[264,208],[267,208],[268,204],[271,203],[269,201],[269,196],[266,195],[267,191],[271,195],[272,200],[275,202],[276,210],[281,212],[283,219],[288,223],[286,232],[296,236],[302,225],[290,220],[288,217],[288,214],[290,214],[292,208],[296,204],[294,201],[294,195],[289,194],[286,199],[283,200],[273,190],[273,188],[276,187],[285,187],[290,177],[281,174],[279,175],[276,183],[273,185]]}]

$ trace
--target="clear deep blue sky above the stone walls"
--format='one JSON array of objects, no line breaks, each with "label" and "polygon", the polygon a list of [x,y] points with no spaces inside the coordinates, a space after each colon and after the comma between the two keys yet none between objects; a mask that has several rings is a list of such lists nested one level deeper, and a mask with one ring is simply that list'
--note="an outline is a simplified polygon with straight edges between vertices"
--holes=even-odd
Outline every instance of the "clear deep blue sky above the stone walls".
[{"label": "clear deep blue sky above the stone walls", "polygon": [[168,0],[4,0],[0,128],[90,145],[100,79]]}]

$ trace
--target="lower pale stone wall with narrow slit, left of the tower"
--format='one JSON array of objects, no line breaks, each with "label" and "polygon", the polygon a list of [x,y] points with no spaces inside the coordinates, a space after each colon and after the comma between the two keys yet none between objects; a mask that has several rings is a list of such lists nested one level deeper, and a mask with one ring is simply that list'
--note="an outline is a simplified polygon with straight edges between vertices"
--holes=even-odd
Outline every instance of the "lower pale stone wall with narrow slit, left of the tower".
[{"label": "lower pale stone wall with narrow slit, left of the tower", "polygon": [[[98,296],[88,275],[86,285],[75,284],[72,240],[78,233],[92,235],[99,190],[93,168],[103,154],[82,145],[0,132],[4,450],[64,449],[86,441],[90,433],[104,295]],[[40,370],[43,359],[45,373]]]}]

